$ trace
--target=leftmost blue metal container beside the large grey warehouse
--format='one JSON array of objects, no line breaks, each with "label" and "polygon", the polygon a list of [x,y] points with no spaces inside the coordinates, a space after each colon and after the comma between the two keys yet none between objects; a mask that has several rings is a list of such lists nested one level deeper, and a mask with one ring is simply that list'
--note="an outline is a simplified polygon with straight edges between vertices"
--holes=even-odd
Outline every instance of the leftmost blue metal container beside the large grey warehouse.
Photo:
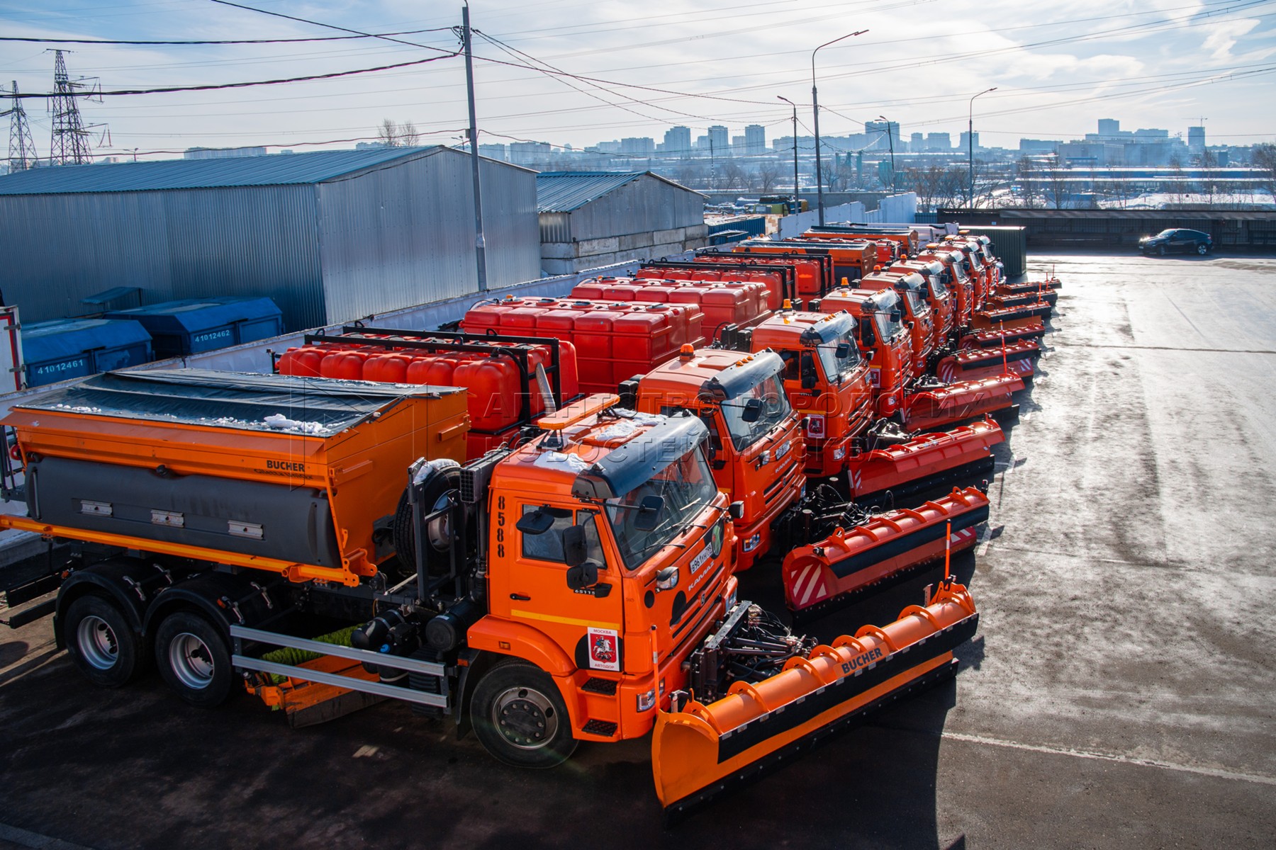
[{"label": "leftmost blue metal container beside the large grey warehouse", "polygon": [[27,386],[85,377],[153,359],[151,334],[137,321],[55,319],[23,325]]}]

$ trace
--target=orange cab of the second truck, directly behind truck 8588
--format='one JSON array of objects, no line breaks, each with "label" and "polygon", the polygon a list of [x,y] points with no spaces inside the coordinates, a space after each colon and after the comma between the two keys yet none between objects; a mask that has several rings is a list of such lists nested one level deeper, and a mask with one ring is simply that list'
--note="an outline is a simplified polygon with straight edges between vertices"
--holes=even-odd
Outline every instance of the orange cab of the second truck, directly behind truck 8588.
[{"label": "orange cab of the second truck, directly behind truck 8588", "polygon": [[736,571],[771,549],[773,522],[801,497],[806,478],[799,414],[785,393],[785,361],[757,354],[686,349],[621,385],[639,413],[689,410],[709,431],[709,465],[718,488],[743,502],[736,521]]}]

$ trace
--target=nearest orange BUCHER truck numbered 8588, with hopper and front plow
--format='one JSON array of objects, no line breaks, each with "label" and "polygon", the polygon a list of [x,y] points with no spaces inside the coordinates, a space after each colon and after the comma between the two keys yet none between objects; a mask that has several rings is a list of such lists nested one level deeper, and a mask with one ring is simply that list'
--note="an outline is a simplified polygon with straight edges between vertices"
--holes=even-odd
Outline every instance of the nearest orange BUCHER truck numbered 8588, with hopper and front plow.
[{"label": "nearest orange BUCHER truck numbered 8588, with hopper and front plow", "polygon": [[398,698],[527,767],[655,729],[671,814],[952,673],[977,614],[951,581],[832,646],[738,600],[706,426],[615,400],[461,465],[452,387],[107,373],[4,419],[29,516],[0,526],[73,542],[54,627],[97,684],[154,664],[295,725]]}]

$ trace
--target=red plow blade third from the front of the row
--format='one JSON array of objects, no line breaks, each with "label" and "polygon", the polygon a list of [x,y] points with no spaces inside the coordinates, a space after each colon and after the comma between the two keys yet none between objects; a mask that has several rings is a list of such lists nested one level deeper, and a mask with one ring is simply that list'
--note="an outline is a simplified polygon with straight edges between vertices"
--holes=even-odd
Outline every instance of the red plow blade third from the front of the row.
[{"label": "red plow blade third from the front of the row", "polygon": [[989,478],[994,465],[990,449],[1004,440],[1002,427],[985,418],[855,455],[846,465],[851,498],[859,505],[872,505],[891,491],[898,502],[937,487],[948,489]]}]

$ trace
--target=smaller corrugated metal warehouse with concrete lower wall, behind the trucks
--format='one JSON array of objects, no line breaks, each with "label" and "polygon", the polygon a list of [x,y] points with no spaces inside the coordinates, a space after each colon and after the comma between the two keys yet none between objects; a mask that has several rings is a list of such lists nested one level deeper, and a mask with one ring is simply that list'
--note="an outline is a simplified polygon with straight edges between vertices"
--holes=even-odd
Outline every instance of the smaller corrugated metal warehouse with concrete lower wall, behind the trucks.
[{"label": "smaller corrugated metal warehouse with concrete lower wall, behind the trucks", "polygon": [[649,171],[540,173],[536,209],[549,274],[681,254],[708,241],[704,195]]}]

